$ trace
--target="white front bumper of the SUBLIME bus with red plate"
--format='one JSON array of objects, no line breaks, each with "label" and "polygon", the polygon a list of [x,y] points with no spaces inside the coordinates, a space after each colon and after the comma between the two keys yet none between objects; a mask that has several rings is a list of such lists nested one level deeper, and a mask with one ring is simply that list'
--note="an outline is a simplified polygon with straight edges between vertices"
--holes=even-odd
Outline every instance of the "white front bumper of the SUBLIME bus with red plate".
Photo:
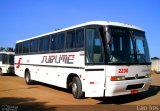
[{"label": "white front bumper of the SUBLIME bus with red plate", "polygon": [[147,91],[151,85],[151,78],[126,81],[110,81],[105,88],[105,96],[119,96],[127,94],[135,94]]}]

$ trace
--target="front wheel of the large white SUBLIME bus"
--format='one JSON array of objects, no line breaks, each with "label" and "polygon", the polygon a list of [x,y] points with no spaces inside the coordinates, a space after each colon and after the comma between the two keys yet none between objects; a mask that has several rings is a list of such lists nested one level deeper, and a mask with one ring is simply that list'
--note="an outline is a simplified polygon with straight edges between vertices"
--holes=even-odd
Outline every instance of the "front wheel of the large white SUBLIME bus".
[{"label": "front wheel of the large white SUBLIME bus", "polygon": [[78,77],[74,77],[72,80],[72,94],[76,99],[83,97],[82,84]]}]

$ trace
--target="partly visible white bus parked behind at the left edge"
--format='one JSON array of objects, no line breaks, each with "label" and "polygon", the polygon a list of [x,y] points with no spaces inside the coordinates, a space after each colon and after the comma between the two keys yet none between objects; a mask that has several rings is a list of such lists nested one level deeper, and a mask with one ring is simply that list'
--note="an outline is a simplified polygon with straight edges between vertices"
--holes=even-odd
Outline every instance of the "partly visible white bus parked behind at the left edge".
[{"label": "partly visible white bus parked behind at the left edge", "polygon": [[14,73],[14,52],[0,52],[0,75]]}]

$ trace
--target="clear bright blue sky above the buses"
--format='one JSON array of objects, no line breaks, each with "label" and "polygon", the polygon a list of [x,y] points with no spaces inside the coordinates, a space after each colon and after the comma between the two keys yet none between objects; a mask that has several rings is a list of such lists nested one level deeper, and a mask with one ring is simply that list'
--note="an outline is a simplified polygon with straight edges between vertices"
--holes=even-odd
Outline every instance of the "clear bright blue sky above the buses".
[{"label": "clear bright blue sky above the buses", "polygon": [[89,21],[141,27],[150,56],[160,57],[160,0],[0,0],[0,47]]}]

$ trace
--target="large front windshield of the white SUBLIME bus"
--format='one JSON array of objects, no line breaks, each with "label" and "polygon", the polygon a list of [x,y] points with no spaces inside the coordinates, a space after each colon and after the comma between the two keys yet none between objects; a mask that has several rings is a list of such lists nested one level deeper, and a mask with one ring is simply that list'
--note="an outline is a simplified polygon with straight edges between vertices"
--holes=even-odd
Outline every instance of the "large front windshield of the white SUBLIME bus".
[{"label": "large front windshield of the white SUBLIME bus", "polygon": [[109,28],[109,64],[150,64],[145,33],[120,27]]}]

